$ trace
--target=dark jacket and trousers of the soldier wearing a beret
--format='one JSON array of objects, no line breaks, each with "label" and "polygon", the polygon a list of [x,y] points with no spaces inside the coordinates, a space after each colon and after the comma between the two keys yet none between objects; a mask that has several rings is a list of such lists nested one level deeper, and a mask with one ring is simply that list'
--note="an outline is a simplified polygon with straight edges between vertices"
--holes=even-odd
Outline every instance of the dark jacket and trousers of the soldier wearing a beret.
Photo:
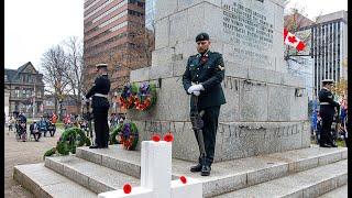
[{"label": "dark jacket and trousers of the soldier wearing a beret", "polygon": [[[224,64],[222,55],[210,51],[204,55],[190,56],[183,75],[183,85],[186,92],[193,84],[201,84],[205,88],[198,97],[198,111],[205,110],[202,135],[207,156],[206,165],[209,166],[213,162],[220,106],[227,102],[221,87],[223,77]],[[187,92],[187,95],[189,94]],[[195,110],[193,98],[190,98],[190,114]],[[196,133],[195,135],[199,145],[198,135]],[[199,164],[201,164],[200,156]]]}]

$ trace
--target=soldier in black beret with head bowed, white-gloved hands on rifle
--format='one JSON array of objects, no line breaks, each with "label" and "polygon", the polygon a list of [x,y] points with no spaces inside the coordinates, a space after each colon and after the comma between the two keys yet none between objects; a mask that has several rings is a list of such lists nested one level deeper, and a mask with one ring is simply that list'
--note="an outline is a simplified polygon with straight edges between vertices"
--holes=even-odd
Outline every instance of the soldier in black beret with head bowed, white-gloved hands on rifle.
[{"label": "soldier in black beret with head bowed, white-gloved hands on rifle", "polygon": [[[202,176],[210,175],[213,162],[216,136],[220,106],[226,103],[221,81],[224,77],[224,64],[222,55],[210,52],[210,41],[207,33],[200,33],[196,37],[198,54],[190,56],[183,75],[183,85],[187,95],[198,97],[198,110],[205,111],[202,116],[202,136],[206,150],[206,161],[199,155],[198,164],[190,167],[190,172],[201,172]],[[191,97],[193,98],[193,97]],[[190,114],[195,110],[194,100],[190,99]],[[199,140],[196,134],[199,145]]]}]

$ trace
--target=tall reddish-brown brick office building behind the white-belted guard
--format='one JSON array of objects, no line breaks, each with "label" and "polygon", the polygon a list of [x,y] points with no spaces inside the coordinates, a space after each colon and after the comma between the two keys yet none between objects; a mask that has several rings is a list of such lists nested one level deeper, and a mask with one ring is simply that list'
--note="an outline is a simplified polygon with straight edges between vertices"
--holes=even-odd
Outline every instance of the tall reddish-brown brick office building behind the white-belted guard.
[{"label": "tall reddish-brown brick office building behind the white-belted guard", "polygon": [[130,70],[151,65],[154,34],[145,29],[145,0],[86,0],[84,7],[84,87],[92,85],[95,65],[107,63],[113,101]]}]

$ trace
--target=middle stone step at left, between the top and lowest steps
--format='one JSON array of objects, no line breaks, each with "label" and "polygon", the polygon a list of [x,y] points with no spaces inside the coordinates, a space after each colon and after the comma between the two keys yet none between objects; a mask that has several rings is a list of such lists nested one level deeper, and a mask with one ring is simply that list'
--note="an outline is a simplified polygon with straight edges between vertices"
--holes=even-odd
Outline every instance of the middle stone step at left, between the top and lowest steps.
[{"label": "middle stone step at left, between the top and lowest steps", "polygon": [[124,184],[140,186],[140,179],[78,158],[75,155],[46,157],[48,167],[96,194],[121,189]]}]

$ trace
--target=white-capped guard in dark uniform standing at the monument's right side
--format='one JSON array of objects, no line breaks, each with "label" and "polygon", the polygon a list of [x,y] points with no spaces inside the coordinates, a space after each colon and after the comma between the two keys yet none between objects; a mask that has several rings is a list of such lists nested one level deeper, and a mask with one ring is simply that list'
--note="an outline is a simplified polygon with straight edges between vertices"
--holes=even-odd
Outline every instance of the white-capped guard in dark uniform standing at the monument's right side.
[{"label": "white-capped guard in dark uniform standing at the monument's right side", "polygon": [[321,133],[320,133],[320,147],[338,147],[331,135],[331,124],[336,113],[334,108],[339,108],[339,103],[333,101],[333,95],[331,88],[333,86],[332,79],[324,79],[322,82],[322,89],[319,91],[320,101],[320,117],[321,117]]}]

